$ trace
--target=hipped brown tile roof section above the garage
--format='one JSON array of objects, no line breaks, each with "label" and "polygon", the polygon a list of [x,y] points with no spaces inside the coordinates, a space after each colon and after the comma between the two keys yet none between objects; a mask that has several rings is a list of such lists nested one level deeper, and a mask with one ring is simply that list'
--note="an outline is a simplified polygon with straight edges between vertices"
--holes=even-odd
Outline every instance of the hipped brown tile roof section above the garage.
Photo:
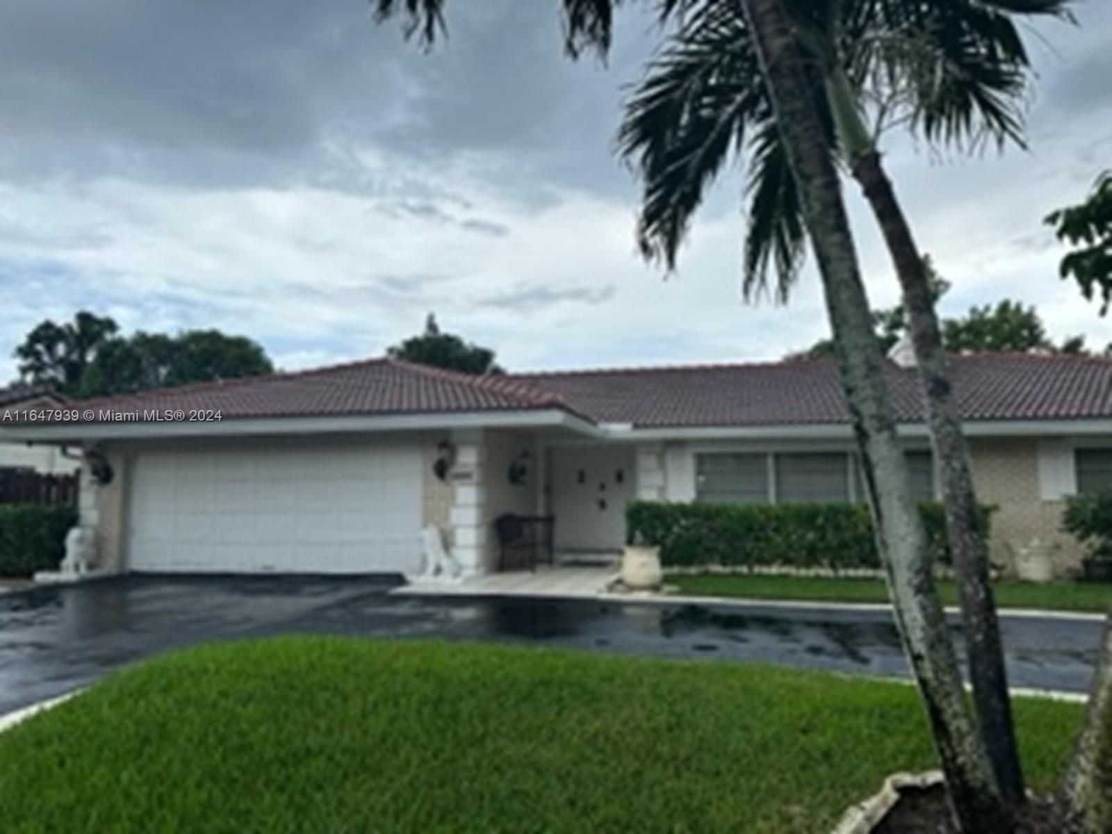
[{"label": "hipped brown tile roof section above the garage", "polygon": [[339,415],[572,410],[558,394],[506,376],[475,377],[398,359],[158,388],[79,400],[82,410],[214,409],[224,419]]}]

